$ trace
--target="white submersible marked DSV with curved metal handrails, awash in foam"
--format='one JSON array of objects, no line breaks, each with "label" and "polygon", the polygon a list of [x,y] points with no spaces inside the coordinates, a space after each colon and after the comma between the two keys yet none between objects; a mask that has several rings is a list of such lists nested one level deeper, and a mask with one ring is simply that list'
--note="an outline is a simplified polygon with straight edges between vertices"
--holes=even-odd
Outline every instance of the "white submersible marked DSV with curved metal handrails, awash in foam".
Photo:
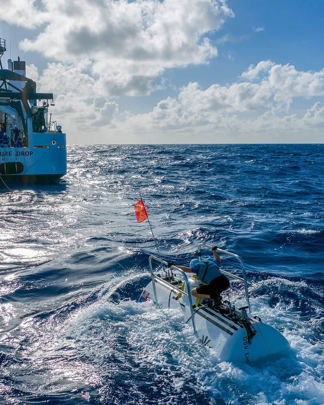
[{"label": "white submersible marked DSV with curved metal handrails, awash in foam", "polygon": [[[198,254],[200,257],[200,247]],[[208,245],[205,245],[208,246]],[[211,246],[208,246],[211,247]],[[239,256],[217,249],[218,252]],[[139,301],[152,300],[157,308],[181,308],[185,323],[192,324],[194,333],[203,345],[213,349],[220,361],[256,362],[260,358],[288,352],[288,341],[275,328],[262,322],[258,316],[249,313],[249,296],[243,264],[243,278],[223,271],[228,276],[240,279],[245,284],[247,305],[235,309],[233,303],[224,301],[214,305],[212,300],[196,298],[190,290],[200,282],[187,278],[186,274],[176,266],[171,266],[165,275],[155,274],[152,261],[167,265],[168,263],[155,256],[150,256],[149,263],[152,281],[145,287]],[[161,269],[160,269],[161,273]]]}]

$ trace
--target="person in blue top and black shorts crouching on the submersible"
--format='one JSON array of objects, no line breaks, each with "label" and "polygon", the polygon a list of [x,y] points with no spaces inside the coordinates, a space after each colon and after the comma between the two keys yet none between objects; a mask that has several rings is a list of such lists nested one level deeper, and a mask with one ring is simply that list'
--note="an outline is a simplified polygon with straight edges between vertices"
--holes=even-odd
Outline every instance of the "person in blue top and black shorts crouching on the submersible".
[{"label": "person in blue top and black shorts crouching on the submersible", "polygon": [[214,259],[192,259],[190,267],[177,266],[186,273],[195,273],[197,278],[204,284],[200,284],[191,290],[191,295],[197,298],[211,298],[216,305],[220,305],[222,297],[220,293],[230,286],[228,278],[220,271],[220,256],[216,252],[217,246],[211,248]]}]

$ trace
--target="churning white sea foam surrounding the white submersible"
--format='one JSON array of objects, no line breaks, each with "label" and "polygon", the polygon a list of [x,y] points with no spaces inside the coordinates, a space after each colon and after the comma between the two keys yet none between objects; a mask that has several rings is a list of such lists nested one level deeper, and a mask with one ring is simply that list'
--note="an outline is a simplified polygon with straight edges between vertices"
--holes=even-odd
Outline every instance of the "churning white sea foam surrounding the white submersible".
[{"label": "churning white sea foam surrounding the white submersible", "polygon": [[[251,292],[269,288],[281,294],[288,289],[299,296],[305,286],[303,281],[269,279],[255,283]],[[111,291],[107,290],[98,302],[78,311],[68,328],[76,349],[90,358],[101,379],[107,373],[115,373],[115,378],[131,378],[138,368],[147,374],[147,384],[154,379],[158,386],[166,378],[159,388],[161,398],[173,397],[173,403],[178,403],[176,393],[189,385],[194,392],[211,396],[212,403],[324,403],[322,346],[311,342],[307,322],[287,311],[286,303],[279,301],[271,308],[271,294],[251,300],[254,313],[282,331],[292,355],[254,367],[219,362],[217,353],[201,345],[190,326],[183,324],[181,311],[156,310],[150,303],[134,301],[113,304],[107,301],[109,296]],[[122,374],[109,360],[115,356],[127,364]],[[107,381],[102,392],[106,392],[105,384]]]}]

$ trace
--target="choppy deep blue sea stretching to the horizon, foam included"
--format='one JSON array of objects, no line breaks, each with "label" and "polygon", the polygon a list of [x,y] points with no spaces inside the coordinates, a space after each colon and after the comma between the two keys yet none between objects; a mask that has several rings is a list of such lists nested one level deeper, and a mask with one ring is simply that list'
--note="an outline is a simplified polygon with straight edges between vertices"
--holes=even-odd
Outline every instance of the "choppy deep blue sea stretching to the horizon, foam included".
[{"label": "choppy deep blue sea stretching to the horizon, foam included", "polygon": [[[2,189],[2,403],[323,404],[323,156],[324,145],[70,146],[56,185]],[[288,356],[219,362],[180,311],[136,302],[156,254],[136,222],[140,191],[167,260],[188,264],[200,242],[241,256],[252,313]]]}]

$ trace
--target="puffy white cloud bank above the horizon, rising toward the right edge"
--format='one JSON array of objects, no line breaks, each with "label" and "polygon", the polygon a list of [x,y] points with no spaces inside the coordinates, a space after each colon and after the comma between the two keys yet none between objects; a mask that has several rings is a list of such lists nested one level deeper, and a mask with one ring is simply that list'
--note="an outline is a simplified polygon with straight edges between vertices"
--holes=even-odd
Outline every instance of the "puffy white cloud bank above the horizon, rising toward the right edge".
[{"label": "puffy white cloud bank above the horizon, rising toward the right edge", "polygon": [[[147,114],[131,115],[116,122],[116,130],[137,136],[139,142],[320,142],[324,107],[315,102],[304,115],[283,114],[292,99],[324,95],[324,72],[298,72],[292,65],[262,61],[245,72],[257,83],[244,82],[202,90],[198,83],[183,87],[176,98],[167,97]],[[244,76],[244,75],[242,75]],[[241,76],[241,77],[242,77]],[[144,135],[143,135],[144,134]],[[133,140],[134,141],[134,140]]]}]

